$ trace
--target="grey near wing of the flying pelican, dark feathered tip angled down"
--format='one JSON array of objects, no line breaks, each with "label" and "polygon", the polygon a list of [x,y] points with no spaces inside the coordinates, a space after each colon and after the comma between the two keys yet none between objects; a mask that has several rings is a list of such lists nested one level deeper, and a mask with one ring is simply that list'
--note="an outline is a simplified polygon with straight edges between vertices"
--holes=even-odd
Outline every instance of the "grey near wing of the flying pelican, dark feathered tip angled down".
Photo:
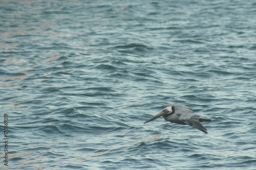
[{"label": "grey near wing of the flying pelican, dark feathered tip angled down", "polygon": [[179,119],[184,122],[185,124],[191,126],[191,127],[194,127],[194,128],[197,128],[199,129],[200,131],[204,132],[204,133],[208,133],[207,132],[207,129],[201,125],[199,123],[199,118],[200,118],[200,115],[198,114],[195,114],[193,112],[190,112],[190,113],[182,113],[179,117]]}]

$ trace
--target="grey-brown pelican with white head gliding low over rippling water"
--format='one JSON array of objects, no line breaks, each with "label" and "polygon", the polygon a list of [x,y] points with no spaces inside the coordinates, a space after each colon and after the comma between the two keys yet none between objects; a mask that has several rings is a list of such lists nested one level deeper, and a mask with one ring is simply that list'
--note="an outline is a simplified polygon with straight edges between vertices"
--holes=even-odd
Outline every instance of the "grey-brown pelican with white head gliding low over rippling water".
[{"label": "grey-brown pelican with white head gliding low over rippling water", "polygon": [[166,108],[151,119],[144,122],[144,124],[163,116],[163,118],[168,122],[181,125],[189,125],[191,127],[199,129],[205,134],[208,133],[207,129],[200,123],[210,122],[211,119],[194,113],[190,107],[183,105],[163,105],[162,107]]}]

